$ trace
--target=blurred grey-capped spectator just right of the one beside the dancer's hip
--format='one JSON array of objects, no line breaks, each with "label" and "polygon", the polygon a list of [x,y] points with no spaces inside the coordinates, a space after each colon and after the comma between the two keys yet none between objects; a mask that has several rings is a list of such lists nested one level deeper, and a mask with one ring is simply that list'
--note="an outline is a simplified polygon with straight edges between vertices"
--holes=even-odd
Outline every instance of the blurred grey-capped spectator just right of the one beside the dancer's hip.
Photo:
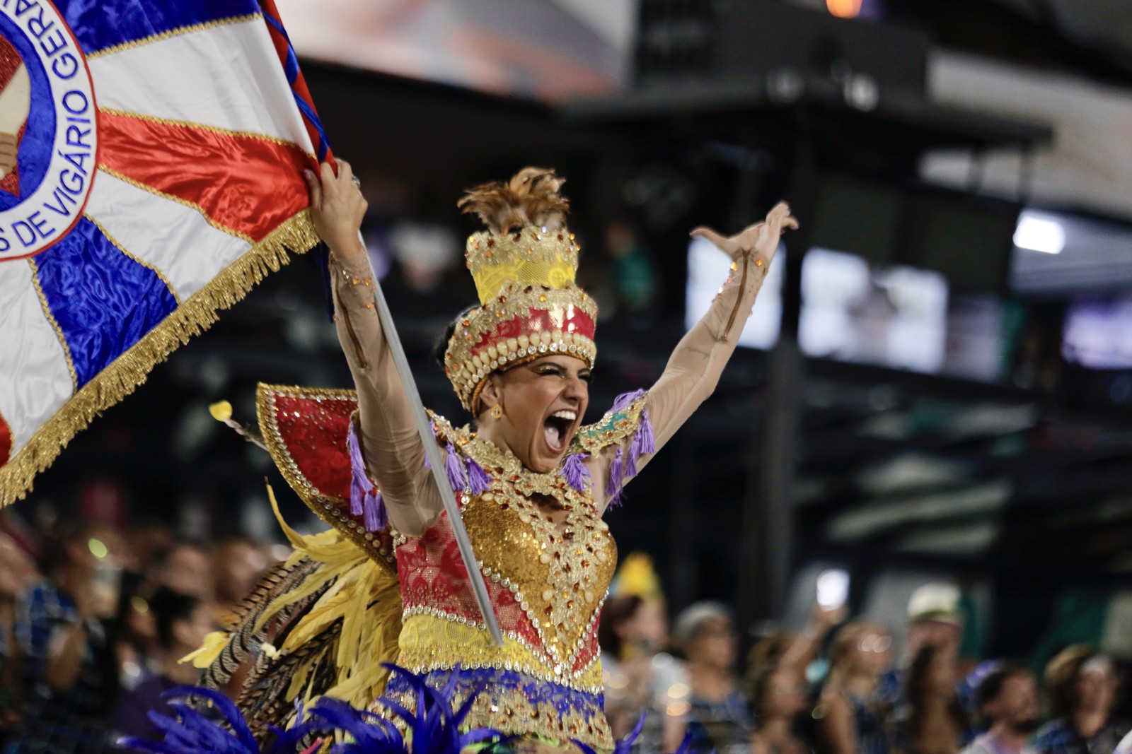
[{"label": "blurred grey-capped spectator just right of the one beside the dancer's hip", "polygon": [[749,751],[754,720],[734,671],[738,638],[727,608],[696,603],[677,618],[674,633],[687,659],[692,751]]}]

